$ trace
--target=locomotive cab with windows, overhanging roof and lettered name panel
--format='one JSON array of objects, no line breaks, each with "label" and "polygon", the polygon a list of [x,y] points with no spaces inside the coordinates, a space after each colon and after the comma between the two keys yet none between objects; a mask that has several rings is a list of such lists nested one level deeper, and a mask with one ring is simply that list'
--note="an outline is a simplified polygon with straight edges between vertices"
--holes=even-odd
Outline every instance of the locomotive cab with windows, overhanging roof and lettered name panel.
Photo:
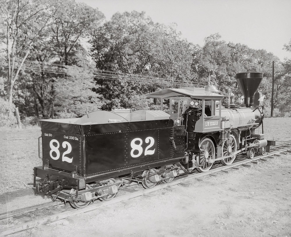
[{"label": "locomotive cab with windows, overhanging roof and lettered name panel", "polygon": [[[186,131],[205,133],[220,129],[223,95],[206,91],[205,88],[188,87],[163,89],[147,96],[160,99],[161,110],[164,110],[164,100],[169,100],[170,119],[175,125],[179,125],[175,121],[180,120]],[[189,116],[191,119],[186,121]]]}]

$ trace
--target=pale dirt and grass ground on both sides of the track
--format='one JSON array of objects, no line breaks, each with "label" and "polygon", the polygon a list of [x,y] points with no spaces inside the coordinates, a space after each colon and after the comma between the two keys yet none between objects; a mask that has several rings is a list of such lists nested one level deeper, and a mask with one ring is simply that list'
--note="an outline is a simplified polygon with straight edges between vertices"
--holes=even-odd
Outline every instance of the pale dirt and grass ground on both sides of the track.
[{"label": "pale dirt and grass ground on both sides of the track", "polygon": [[[267,139],[290,141],[290,131],[291,118],[265,119]],[[41,164],[34,148],[39,129],[0,132],[6,139],[35,136],[1,140],[0,213],[44,202],[23,183],[32,182],[33,166]],[[8,147],[13,143],[17,143],[13,149]],[[27,159],[21,155],[25,152]],[[22,167],[24,163],[27,168]],[[291,236],[290,155],[188,182],[189,187],[176,185],[172,192],[161,190],[152,197],[131,199],[130,204],[118,203],[109,210],[91,211],[12,236]],[[5,227],[0,223],[0,228]]]}]

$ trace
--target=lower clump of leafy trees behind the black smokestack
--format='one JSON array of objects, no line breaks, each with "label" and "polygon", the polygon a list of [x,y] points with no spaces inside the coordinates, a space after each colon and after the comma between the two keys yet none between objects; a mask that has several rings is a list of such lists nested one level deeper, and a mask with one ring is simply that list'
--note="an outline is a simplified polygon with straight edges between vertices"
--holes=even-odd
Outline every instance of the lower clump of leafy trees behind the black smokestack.
[{"label": "lower clump of leafy trees behind the black smokestack", "polygon": [[[260,90],[265,94],[265,108],[270,115],[270,101],[272,92],[272,61],[275,64],[275,92],[274,108],[281,106],[280,95],[285,88],[285,80],[282,80],[283,65],[276,57],[266,50],[255,50],[247,45],[239,43],[226,43],[221,40],[219,34],[213,34],[205,38],[203,47],[196,46],[193,57],[193,69],[198,77],[212,76],[215,85],[231,89],[237,96],[241,96],[235,73],[244,71],[262,72],[264,78],[260,84]],[[284,109],[283,109],[284,110]],[[282,114],[280,113],[277,113]]]}]

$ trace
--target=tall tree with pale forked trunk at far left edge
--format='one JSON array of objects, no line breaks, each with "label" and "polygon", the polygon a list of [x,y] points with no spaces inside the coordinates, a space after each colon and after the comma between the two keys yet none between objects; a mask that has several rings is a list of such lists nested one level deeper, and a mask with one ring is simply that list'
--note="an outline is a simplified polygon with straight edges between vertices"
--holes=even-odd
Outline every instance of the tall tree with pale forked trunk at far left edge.
[{"label": "tall tree with pale forked trunk at far left edge", "polygon": [[[8,104],[12,106],[13,86],[19,76],[31,45],[50,24],[54,1],[1,0],[0,13],[6,27],[8,58]],[[22,57],[19,63],[17,57]]]}]

